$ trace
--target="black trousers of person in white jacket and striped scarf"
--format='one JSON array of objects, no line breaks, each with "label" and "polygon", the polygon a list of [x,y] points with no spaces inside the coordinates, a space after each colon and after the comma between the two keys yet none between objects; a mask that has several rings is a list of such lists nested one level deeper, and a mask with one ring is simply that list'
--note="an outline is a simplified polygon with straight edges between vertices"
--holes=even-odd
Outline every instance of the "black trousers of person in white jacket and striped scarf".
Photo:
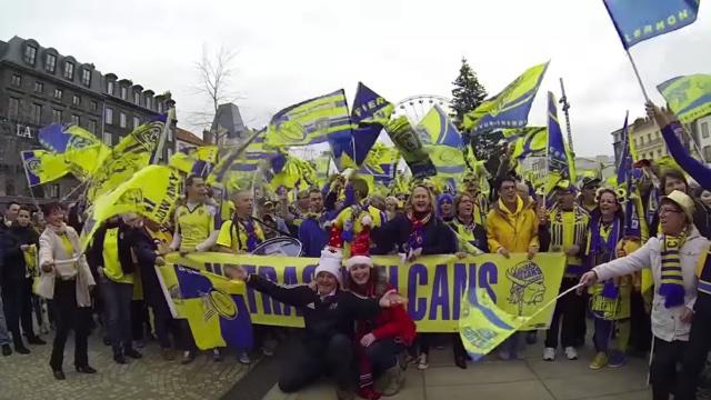
[{"label": "black trousers of person in white jacket and striped scarf", "polygon": [[654,338],[654,354],[649,371],[653,400],[669,400],[669,397],[677,391],[679,383],[677,364],[683,359],[687,344],[685,341],[668,342]]}]

